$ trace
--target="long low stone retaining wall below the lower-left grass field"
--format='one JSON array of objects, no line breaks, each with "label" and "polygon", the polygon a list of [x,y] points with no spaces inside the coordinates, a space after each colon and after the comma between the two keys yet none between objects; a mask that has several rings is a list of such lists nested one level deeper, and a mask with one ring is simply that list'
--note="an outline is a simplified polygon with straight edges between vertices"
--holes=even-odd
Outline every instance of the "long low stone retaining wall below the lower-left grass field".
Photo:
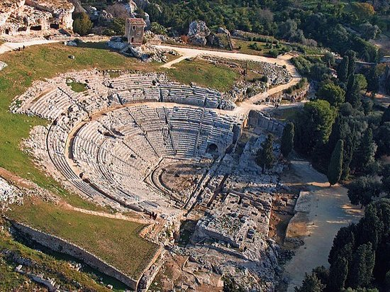
[{"label": "long low stone retaining wall below the lower-left grass field", "polygon": [[13,220],[10,220],[10,222],[13,225],[13,228],[16,228],[16,230],[23,233],[24,235],[27,235],[31,240],[38,242],[40,245],[48,247],[56,252],[62,252],[64,254],[75,257],[85,264],[88,264],[92,268],[101,271],[101,273],[104,273],[117,279],[118,281],[121,281],[122,283],[125,283],[129,288],[133,290],[137,289],[139,279],[132,279],[122,271],[119,271],[110,264],[104,262],[102,259],[99,259],[99,257],[96,257],[94,254],[87,252],[87,250],[83,249],[82,247],[73,245],[66,240],[62,240],[60,237],[35,230],[34,228],[30,228],[29,226],[23,225],[21,223],[16,223]]}]

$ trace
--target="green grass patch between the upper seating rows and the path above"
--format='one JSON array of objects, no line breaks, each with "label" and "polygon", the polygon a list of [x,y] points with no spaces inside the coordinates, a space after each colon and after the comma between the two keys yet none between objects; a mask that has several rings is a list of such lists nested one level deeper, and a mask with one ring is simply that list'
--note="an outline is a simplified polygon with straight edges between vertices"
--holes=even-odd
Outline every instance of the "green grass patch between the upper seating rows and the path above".
[{"label": "green grass patch between the upper seating rows and the path above", "polygon": [[194,82],[200,86],[211,87],[219,91],[228,91],[240,78],[235,70],[205,60],[183,60],[174,64],[174,67],[176,69],[167,71],[167,75],[171,79],[184,84]]}]

